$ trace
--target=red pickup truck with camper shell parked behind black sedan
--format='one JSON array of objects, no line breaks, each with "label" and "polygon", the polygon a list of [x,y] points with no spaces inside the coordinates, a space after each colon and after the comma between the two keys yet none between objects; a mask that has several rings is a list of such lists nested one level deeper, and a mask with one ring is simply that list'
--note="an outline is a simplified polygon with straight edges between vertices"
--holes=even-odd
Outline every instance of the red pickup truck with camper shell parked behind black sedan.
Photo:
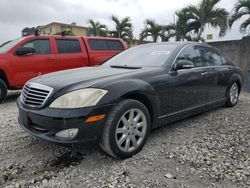
[{"label": "red pickup truck with camper shell parked behind black sedan", "polygon": [[0,46],[0,103],[39,75],[102,63],[127,49],[122,39],[29,36]]}]

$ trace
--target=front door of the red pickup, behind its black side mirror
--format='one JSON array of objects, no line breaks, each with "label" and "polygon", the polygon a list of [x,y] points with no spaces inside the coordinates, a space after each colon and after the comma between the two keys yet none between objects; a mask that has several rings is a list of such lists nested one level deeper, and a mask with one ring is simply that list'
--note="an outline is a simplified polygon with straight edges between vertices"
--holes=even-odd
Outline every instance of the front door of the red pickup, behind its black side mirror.
[{"label": "front door of the red pickup, behind its black side mirror", "polygon": [[28,80],[48,73],[48,65],[55,60],[52,53],[51,41],[49,38],[32,39],[21,46],[35,49],[34,54],[10,56],[10,63],[15,72],[14,79],[17,88],[21,88]]}]

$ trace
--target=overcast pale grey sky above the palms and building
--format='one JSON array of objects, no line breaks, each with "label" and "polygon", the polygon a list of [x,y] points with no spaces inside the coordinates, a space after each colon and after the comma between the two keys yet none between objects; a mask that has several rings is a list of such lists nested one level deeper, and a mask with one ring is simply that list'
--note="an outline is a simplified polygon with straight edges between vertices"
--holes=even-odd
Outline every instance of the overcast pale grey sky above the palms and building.
[{"label": "overcast pale grey sky above the palms and building", "polygon": [[[159,24],[174,22],[175,11],[186,5],[195,5],[200,0],[0,0],[0,44],[21,36],[24,27],[46,25],[50,22],[72,23],[88,26],[94,19],[114,27],[110,16],[129,16],[138,38],[145,19]],[[232,12],[236,0],[221,0],[220,7]],[[213,34],[214,40],[236,40],[242,38],[236,23],[225,37],[219,38],[219,30],[207,28],[206,34]]]}]

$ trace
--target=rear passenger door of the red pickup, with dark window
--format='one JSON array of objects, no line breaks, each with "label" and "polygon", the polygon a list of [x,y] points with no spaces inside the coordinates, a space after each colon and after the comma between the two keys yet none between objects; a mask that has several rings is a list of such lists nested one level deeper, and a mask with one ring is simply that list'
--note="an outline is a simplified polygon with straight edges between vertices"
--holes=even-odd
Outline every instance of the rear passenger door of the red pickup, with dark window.
[{"label": "rear passenger door of the red pickup, with dark window", "polygon": [[73,69],[89,65],[88,54],[83,42],[77,38],[56,38],[56,63],[53,71]]}]

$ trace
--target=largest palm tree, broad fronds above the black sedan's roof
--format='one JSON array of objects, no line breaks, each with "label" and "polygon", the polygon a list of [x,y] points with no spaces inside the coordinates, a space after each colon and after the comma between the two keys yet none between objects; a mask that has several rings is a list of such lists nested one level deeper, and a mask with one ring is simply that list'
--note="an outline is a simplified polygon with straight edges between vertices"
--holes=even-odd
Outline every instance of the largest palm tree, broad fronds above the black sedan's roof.
[{"label": "largest palm tree, broad fronds above the black sedan's roof", "polygon": [[190,23],[197,33],[196,40],[201,40],[201,35],[207,25],[220,28],[220,36],[225,35],[227,30],[228,12],[224,8],[217,8],[220,0],[201,0],[198,6],[190,5],[183,9],[190,14]]}]

